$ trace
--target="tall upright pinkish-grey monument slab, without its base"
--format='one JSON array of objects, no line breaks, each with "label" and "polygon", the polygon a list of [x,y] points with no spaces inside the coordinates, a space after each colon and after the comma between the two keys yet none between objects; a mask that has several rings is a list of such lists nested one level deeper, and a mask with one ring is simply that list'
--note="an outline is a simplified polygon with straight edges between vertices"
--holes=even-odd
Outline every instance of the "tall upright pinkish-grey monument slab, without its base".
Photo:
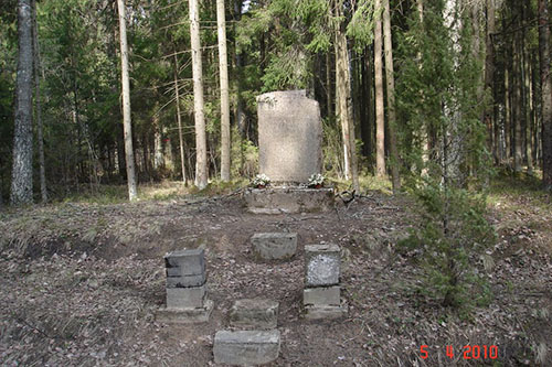
[{"label": "tall upright pinkish-grey monument slab, without its base", "polygon": [[257,96],[259,173],[273,183],[307,182],[322,168],[322,122],[318,102],[305,90]]}]

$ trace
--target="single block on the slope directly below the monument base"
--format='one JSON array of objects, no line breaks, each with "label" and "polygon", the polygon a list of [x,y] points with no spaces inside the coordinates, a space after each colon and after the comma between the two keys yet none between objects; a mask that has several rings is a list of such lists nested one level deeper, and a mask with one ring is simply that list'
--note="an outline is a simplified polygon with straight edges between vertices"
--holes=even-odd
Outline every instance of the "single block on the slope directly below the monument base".
[{"label": "single block on the slope directly below the monument base", "polygon": [[254,251],[265,260],[288,259],[297,251],[297,234],[255,234],[251,242]]}]

